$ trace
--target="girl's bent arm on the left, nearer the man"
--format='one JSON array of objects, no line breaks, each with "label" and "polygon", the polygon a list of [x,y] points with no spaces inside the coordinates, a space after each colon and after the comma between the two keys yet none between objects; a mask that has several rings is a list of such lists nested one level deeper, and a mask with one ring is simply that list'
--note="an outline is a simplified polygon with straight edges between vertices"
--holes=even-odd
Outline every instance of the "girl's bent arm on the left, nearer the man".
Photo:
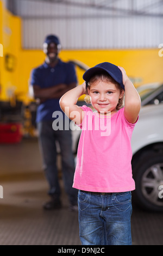
[{"label": "girl's bent arm on the left, nearer the man", "polygon": [[62,111],[65,112],[68,118],[73,121],[75,120],[74,123],[78,125],[82,124],[84,118],[83,109],[77,105],[78,98],[83,94],[86,94],[85,82],[80,84],[80,86],[68,90],[59,101]]}]

